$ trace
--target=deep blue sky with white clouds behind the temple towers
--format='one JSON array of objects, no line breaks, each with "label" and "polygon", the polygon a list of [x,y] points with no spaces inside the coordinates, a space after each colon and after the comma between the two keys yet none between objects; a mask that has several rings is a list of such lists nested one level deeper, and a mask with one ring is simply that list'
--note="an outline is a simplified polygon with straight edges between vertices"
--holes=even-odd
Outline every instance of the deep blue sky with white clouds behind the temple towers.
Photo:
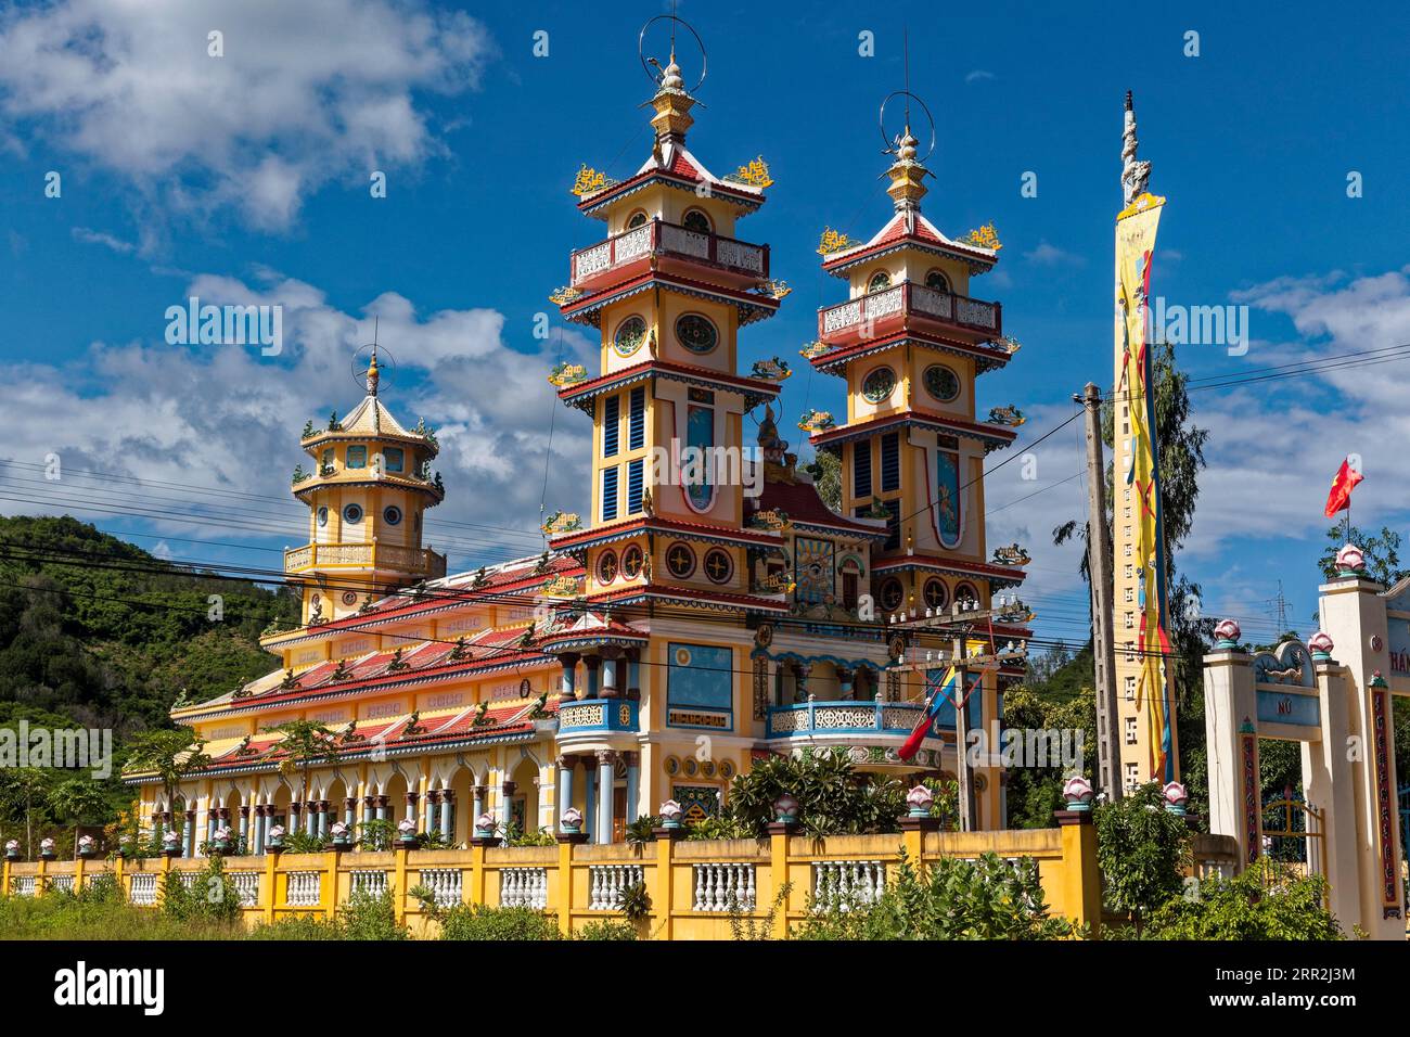
[{"label": "deep blue sky with white clouds behind the temple towers", "polygon": [[[1018,404],[1029,437],[1072,413],[1083,382],[1111,378],[1127,89],[1151,189],[1169,199],[1153,293],[1249,306],[1248,353],[1186,346],[1191,375],[1410,343],[1410,21],[1390,4],[1285,4],[1276,21],[1232,7],[1155,6],[1128,32],[1128,4],[682,3],[709,48],[689,145],[718,174],[767,158],[768,203],[739,233],[770,243],[795,289],[746,330],[742,358],[797,361],[816,308],[843,291],[818,272],[821,230],[869,237],[890,212],[876,111],[902,85],[902,27],[939,130],[924,210],[952,236],[993,222],[1004,243],[971,292],[1004,303],[1024,350],[983,380],[981,405]],[[400,365],[388,402],[443,429],[448,499],[430,542],[453,566],[534,550],[554,411],[543,374],[560,347],[587,356],[575,327],[534,339],[534,315],[553,310],[568,253],[601,236],[567,192],[578,165],[625,176],[649,152],[636,37],[663,10],[0,1],[0,454],[58,453],[73,473],[45,484],[7,467],[0,511],[63,509],[175,557],[278,564],[302,530],[286,495],[299,429],[355,402],[348,354],[376,313]],[[223,58],[207,55],[210,30]],[[859,54],[863,31],[874,56]],[[681,58],[689,75],[698,59]],[[385,199],[369,196],[372,169]],[[49,171],[61,198],[45,198]],[[1025,172],[1036,198],[1021,195]],[[190,293],[281,302],[285,353],[168,346],[165,309]],[[790,423],[842,409],[836,380],[795,368]],[[1282,580],[1310,633],[1321,504],[1348,451],[1368,475],[1358,523],[1406,530],[1407,371],[1194,395],[1213,439],[1182,567],[1208,612],[1268,635]],[[581,508],[587,420],[560,409],[551,433],[548,511]],[[1084,509],[1079,435],[1038,447],[1036,481],[1010,464],[988,487],[990,543],[1029,546],[1039,632],[1073,641],[1084,588],[1049,530]],[[124,516],[124,497],[147,518]]]}]

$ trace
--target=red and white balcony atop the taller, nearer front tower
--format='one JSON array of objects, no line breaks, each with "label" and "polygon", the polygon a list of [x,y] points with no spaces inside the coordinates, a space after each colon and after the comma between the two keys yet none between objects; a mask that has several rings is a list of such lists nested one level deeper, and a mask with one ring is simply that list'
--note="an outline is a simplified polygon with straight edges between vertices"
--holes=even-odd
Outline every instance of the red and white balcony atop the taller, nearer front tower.
[{"label": "red and white balcony atop the taller, nearer front tower", "polygon": [[712,279],[732,288],[750,288],[768,277],[768,245],[651,220],[575,251],[571,285],[595,292],[650,268],[653,260],[657,269],[697,278],[699,267],[709,267]]}]

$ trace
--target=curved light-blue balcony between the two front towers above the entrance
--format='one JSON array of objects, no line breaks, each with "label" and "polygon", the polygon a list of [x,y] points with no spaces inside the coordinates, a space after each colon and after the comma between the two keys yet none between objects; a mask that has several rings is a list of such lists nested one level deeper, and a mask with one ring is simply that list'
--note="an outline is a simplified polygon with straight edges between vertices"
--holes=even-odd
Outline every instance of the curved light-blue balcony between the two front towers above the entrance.
[{"label": "curved light-blue balcony between the two front towers above the entrance", "polygon": [[912,760],[895,755],[924,712],[921,703],[887,703],[878,698],[816,700],[770,705],[764,738],[770,749],[843,746],[860,768],[924,769],[939,766],[942,739],[929,734]]}]

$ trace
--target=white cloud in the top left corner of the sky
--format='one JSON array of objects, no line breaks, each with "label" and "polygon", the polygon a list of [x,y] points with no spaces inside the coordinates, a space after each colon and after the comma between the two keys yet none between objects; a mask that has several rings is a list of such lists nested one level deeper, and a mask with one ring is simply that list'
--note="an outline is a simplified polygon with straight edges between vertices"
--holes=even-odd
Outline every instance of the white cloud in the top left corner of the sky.
[{"label": "white cloud in the top left corner of the sky", "polygon": [[491,54],[423,0],[58,0],[0,14],[0,140],[56,142],[151,212],[282,230],[329,181],[437,154],[419,96],[475,87]]}]

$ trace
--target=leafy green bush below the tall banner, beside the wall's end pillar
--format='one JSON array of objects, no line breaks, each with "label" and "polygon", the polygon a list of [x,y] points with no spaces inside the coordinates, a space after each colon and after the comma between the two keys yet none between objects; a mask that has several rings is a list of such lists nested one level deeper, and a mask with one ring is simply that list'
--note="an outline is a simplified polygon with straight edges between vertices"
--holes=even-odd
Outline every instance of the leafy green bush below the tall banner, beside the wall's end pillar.
[{"label": "leafy green bush below the tall banner, beside the wall's end pillar", "polygon": [[1093,821],[1107,906],[1131,918],[1139,934],[1145,918],[1184,887],[1193,832],[1183,817],[1165,810],[1158,782],[1098,804]]}]

